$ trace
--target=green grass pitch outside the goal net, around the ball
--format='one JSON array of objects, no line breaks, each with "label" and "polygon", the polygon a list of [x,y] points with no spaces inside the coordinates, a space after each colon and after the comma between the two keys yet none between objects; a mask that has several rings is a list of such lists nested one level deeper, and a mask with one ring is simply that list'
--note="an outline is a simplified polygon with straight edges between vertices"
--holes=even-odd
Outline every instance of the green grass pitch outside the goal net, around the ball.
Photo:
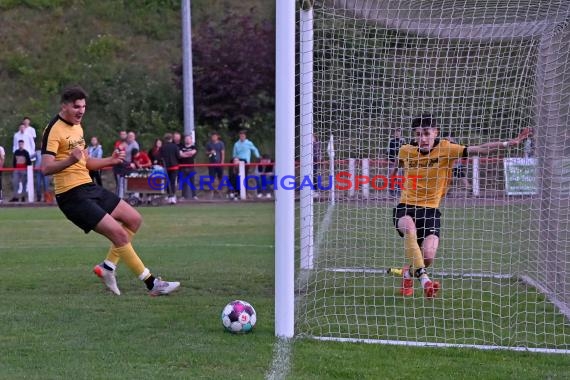
[{"label": "green grass pitch outside the goal net, around the ball", "polygon": [[[57,208],[0,208],[0,379],[265,377],[275,343],[272,205],[139,210],[145,223],[135,248],[155,273],[182,282],[171,297],[148,297],[124,266],[118,272],[123,295],[111,296],[91,274],[107,250],[104,238],[84,235]],[[365,281],[370,290],[382,289]],[[368,298],[376,309],[429,314],[419,298],[403,303],[380,296]],[[469,295],[463,297],[466,302]],[[219,312],[234,298],[255,306],[253,333],[223,331]],[[448,306],[455,314],[447,320],[469,317],[467,305]],[[367,328],[395,321],[382,327],[369,319]],[[564,379],[570,355],[297,339],[287,378],[409,379],[426,373],[440,379]]]}]

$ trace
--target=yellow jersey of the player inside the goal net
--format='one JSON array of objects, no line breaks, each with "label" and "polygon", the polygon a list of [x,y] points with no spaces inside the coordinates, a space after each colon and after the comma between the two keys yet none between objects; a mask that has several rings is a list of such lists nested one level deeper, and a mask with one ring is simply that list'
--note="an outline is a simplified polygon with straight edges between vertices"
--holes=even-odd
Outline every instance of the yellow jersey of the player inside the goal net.
[{"label": "yellow jersey of the player inside the goal net", "polygon": [[[462,157],[467,157],[467,148],[448,140],[436,140],[429,153],[421,153],[417,145],[403,145],[398,159],[406,182],[400,202],[438,208],[449,186],[453,162]],[[417,178],[415,188],[411,186],[412,176]]]}]

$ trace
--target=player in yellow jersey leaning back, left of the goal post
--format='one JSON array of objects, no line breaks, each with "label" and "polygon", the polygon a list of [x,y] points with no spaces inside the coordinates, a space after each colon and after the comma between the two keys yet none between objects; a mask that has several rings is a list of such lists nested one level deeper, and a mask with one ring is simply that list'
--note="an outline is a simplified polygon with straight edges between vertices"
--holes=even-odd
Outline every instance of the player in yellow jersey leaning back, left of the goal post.
[{"label": "player in yellow jersey leaning back, left of the goal post", "polygon": [[61,95],[61,108],[44,130],[42,137],[42,172],[53,175],[55,197],[63,214],[85,233],[93,230],[111,241],[107,257],[93,268],[106,287],[116,295],[115,270],[119,260],[145,283],[151,296],[167,295],[179,282],[154,277],[134,251],[131,240],[142,223],[141,215],[114,193],[97,186],[90,170],[100,170],[121,163],[124,152],[111,157],[87,155],[81,120],[85,115],[87,94],[78,86]]}]

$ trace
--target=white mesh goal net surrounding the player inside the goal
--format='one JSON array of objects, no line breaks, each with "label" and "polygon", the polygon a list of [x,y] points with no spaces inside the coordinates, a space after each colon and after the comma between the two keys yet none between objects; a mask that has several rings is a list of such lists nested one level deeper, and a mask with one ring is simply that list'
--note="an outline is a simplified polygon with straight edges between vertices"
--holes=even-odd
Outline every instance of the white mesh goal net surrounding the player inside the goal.
[{"label": "white mesh goal net surrounding the player inside the goal", "polygon": [[[299,181],[320,183],[300,186],[296,333],[570,353],[570,3],[305,0],[299,12]],[[402,297],[386,273],[406,260],[382,182],[390,137],[410,141],[425,112],[466,146],[534,131],[458,162],[433,300],[416,280]]]}]

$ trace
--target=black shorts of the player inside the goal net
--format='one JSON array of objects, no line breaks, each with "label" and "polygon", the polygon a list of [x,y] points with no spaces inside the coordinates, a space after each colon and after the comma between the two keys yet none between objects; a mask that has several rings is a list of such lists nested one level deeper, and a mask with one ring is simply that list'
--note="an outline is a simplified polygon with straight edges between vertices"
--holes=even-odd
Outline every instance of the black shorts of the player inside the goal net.
[{"label": "black shorts of the player inside the goal net", "polygon": [[399,203],[392,212],[392,221],[396,230],[401,237],[404,234],[398,230],[398,220],[403,216],[410,216],[416,225],[418,234],[418,244],[422,245],[424,239],[429,235],[439,237],[441,229],[441,212],[436,208],[412,206],[404,203]]}]

